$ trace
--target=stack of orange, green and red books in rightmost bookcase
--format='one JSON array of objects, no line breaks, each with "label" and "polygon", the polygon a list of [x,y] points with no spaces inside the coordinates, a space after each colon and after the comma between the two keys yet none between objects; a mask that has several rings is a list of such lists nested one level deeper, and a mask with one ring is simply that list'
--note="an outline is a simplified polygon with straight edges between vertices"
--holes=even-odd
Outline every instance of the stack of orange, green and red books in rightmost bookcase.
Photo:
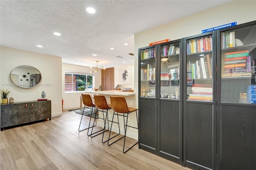
[{"label": "stack of orange, green and red books in rightmost bookcase", "polygon": [[222,77],[248,75],[252,75],[251,56],[248,50],[225,53]]}]

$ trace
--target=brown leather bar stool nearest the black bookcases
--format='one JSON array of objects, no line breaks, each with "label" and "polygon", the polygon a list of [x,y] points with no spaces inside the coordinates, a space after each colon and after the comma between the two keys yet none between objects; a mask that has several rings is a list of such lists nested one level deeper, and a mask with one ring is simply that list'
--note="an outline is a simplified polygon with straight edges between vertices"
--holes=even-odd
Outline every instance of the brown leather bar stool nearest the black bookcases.
[{"label": "brown leather bar stool nearest the black bookcases", "polygon": [[[123,137],[124,137],[124,146],[125,146],[126,129],[127,129],[127,127],[131,127],[131,126],[127,125],[128,115],[129,115],[129,113],[132,113],[132,112],[136,111],[136,119],[137,119],[137,126],[138,126],[138,115],[137,115],[137,110],[138,109],[132,108],[132,107],[128,107],[125,98],[122,97],[122,96],[110,96],[110,102],[111,102],[111,107],[112,107],[112,109],[114,111],[114,115],[113,115],[113,118],[112,118],[110,132],[109,132],[109,136],[108,136],[108,146],[110,146],[111,144],[115,143],[116,141],[120,140]],[[122,115],[118,114],[118,113],[122,113]],[[112,143],[109,143],[110,139],[112,139],[112,138],[114,138],[114,137],[116,137],[116,136],[118,136],[120,134],[120,126],[119,126],[119,120],[118,120],[119,134],[117,134],[117,135],[115,135],[115,136],[110,138],[112,124],[113,124],[113,120],[114,120],[114,116],[115,115],[117,116],[117,120],[118,120],[118,116],[122,116],[124,118],[124,136],[122,136],[121,138],[115,140]],[[126,117],[126,123],[125,123],[125,117]],[[132,127],[132,128],[138,129],[138,127]],[[130,148],[132,148],[137,143],[138,142],[133,144]],[[130,148],[128,148],[126,151],[124,151],[124,147],[123,147],[123,152],[126,153],[128,150],[130,150]]]}]

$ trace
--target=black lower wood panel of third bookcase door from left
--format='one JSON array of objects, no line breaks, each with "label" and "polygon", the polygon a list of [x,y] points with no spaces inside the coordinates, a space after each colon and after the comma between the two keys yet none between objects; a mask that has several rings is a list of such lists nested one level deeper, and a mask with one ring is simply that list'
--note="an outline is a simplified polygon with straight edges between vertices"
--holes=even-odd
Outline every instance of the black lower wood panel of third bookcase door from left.
[{"label": "black lower wood panel of third bookcase door from left", "polygon": [[213,105],[212,103],[187,103],[186,107],[185,165],[212,169]]}]

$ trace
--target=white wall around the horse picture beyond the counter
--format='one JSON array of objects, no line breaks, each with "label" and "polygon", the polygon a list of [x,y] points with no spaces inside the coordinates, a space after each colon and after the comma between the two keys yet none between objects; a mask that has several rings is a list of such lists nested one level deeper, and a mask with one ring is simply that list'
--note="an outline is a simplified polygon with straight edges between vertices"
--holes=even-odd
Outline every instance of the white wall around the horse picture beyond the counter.
[{"label": "white wall around the horse picture beyond the counter", "polygon": [[132,90],[134,89],[134,64],[129,64],[129,65],[122,65],[119,67],[114,67],[114,85],[118,85],[120,84],[120,77],[122,77],[122,75],[120,75],[120,69],[127,69],[127,68],[132,68],[132,73],[129,73],[128,76],[132,76],[132,84],[122,84],[121,85],[121,90],[123,90],[124,88],[132,88]]}]

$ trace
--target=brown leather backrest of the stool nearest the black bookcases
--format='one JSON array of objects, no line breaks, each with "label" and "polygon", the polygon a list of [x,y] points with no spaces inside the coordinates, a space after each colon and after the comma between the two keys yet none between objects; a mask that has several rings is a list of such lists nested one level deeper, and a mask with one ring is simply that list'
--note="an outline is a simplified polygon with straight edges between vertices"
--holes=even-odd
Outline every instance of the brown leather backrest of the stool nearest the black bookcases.
[{"label": "brown leather backrest of the stool nearest the black bookcases", "polygon": [[122,96],[110,96],[111,107],[118,113],[129,113],[126,100]]}]

